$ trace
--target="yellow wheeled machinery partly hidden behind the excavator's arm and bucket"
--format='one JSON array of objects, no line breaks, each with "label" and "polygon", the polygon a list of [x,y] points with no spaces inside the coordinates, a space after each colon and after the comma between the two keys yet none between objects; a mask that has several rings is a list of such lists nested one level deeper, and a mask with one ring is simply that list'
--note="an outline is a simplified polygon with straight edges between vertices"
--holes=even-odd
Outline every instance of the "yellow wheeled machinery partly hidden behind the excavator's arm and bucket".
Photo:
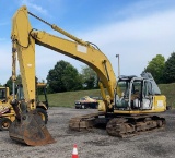
[{"label": "yellow wheeled machinery partly hidden behind the excavator's arm and bucket", "polygon": [[[36,95],[37,106],[36,111],[42,117],[42,120],[47,124],[48,121],[48,100],[46,94],[46,84],[37,83],[37,92],[40,89],[43,95],[45,96],[45,100],[40,100],[38,98],[38,94]],[[13,96],[10,95],[9,87],[0,87],[0,130],[8,131],[11,123],[15,120],[15,112],[11,106],[11,100]],[[18,85],[15,98],[18,98],[19,102],[24,99],[23,87],[22,85]],[[19,104],[21,106],[21,104]],[[20,111],[24,110],[23,107],[19,107]]]}]

